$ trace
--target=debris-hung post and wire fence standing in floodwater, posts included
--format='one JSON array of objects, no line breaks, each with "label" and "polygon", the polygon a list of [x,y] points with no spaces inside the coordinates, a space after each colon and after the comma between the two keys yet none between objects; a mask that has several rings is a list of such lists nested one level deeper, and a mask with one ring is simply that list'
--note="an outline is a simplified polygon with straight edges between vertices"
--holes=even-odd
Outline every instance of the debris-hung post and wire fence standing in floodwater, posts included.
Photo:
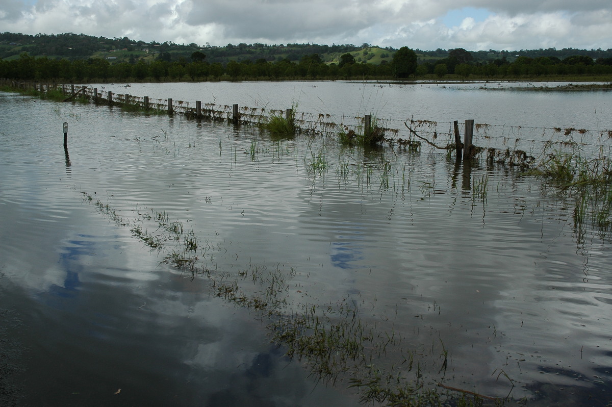
[{"label": "debris-hung post and wire fence standing in floodwater, posts included", "polygon": [[[173,99],[152,99],[147,96],[101,91],[91,86],[74,84],[28,83],[2,80],[2,84],[38,92],[61,91],[65,101],[84,99],[97,104],[120,106],[125,110],[181,114],[186,118],[228,122],[236,125],[261,125],[272,115],[293,118],[298,132],[318,135],[340,132],[363,132],[369,127],[371,116],[343,116],[340,121],[330,114],[294,112],[291,109],[273,110],[248,106],[217,105],[200,100],[185,102]],[[513,125],[474,124],[465,122],[436,122],[428,120],[375,118],[375,125],[384,132],[384,140],[398,148],[431,149],[456,152],[457,158],[485,157],[488,162],[529,166],[547,152],[580,149],[587,155],[610,153],[612,130],[588,130],[561,127],[523,127]],[[460,133],[464,134],[463,142]],[[422,141],[424,143],[422,143]]]}]

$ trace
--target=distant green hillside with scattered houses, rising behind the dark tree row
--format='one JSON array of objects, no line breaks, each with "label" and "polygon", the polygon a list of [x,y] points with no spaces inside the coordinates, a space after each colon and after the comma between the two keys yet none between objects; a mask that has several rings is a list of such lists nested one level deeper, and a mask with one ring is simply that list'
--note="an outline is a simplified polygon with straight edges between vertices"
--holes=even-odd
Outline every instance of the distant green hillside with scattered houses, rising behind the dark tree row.
[{"label": "distant green hillside with scattered houses, rising behind the dark tree row", "polygon": [[[409,44],[406,44],[409,47]],[[461,48],[458,48],[461,50]],[[364,43],[360,46],[345,45],[316,45],[316,44],[274,44],[263,43],[237,45],[228,44],[224,47],[214,47],[209,44],[198,45],[176,44],[173,42],[144,42],[123,38],[93,37],[85,34],[15,34],[4,32],[0,34],[0,59],[16,59],[21,53],[29,56],[47,56],[52,59],[89,59],[100,58],[111,62],[130,62],[143,59],[145,62],[162,60],[166,62],[191,61],[194,52],[200,51],[206,55],[209,63],[219,62],[223,65],[229,61],[252,61],[265,60],[266,62],[278,62],[283,60],[300,61],[304,56],[318,54],[326,64],[340,62],[340,56],[345,53],[353,55],[356,62],[367,62],[368,64],[381,64],[390,62],[394,48],[380,48],[375,45]],[[435,51],[415,50],[419,64],[449,58],[449,50],[438,48]],[[465,51],[465,50],[462,50]],[[520,50],[520,51],[467,51],[471,64],[488,63],[496,59],[513,62],[520,56],[528,58],[558,58],[563,60],[570,56],[583,55],[592,59],[612,58],[612,49],[608,50],[577,50],[574,48],[563,48],[556,50]]]}]

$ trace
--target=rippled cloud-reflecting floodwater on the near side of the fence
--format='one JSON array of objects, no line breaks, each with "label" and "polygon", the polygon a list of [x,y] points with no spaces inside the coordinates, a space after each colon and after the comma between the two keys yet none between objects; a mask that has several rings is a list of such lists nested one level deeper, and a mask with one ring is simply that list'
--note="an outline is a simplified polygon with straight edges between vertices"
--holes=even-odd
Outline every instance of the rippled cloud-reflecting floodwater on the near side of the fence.
[{"label": "rippled cloud-reflecting floodwater on the near side of the fence", "polygon": [[517,168],[13,94],[0,105],[2,386],[16,405],[358,403],[269,343],[265,315],[160,263],[166,248],[84,193],[132,224],[179,220],[200,267],[248,295],[261,283],[243,275],[286,276],[288,314],[349,304],[395,338],[382,372],[401,365],[410,381],[418,365],[426,387],[530,405],[610,401],[610,239]]}]

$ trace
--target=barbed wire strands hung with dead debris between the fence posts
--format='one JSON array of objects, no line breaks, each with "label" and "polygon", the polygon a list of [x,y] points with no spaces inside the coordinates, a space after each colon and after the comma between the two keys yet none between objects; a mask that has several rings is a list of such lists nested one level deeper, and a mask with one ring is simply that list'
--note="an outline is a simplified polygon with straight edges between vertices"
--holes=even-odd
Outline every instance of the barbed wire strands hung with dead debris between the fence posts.
[{"label": "barbed wire strands hung with dead debris between the fence posts", "polygon": [[[70,85],[70,89],[75,89]],[[41,91],[50,89],[61,89],[67,93],[66,85],[40,84]],[[75,94],[82,93],[87,99],[95,100],[97,103],[109,103],[111,92],[100,91],[92,86],[73,90]],[[148,100],[148,105],[146,100]],[[114,105],[135,105],[142,109],[157,111],[172,110],[175,114],[188,117],[196,117],[195,103],[183,100],[172,100],[168,105],[168,99],[154,99],[129,94],[112,93]],[[214,102],[201,103],[200,115],[204,119],[216,121],[236,121],[240,124],[259,125],[267,121],[271,115],[283,115],[285,111],[267,108],[251,108],[239,106],[239,117],[234,118],[233,106],[217,105]],[[342,130],[353,129],[359,131],[364,126],[364,116],[341,116],[337,118],[332,114],[294,112],[296,127],[303,132],[312,134],[328,134]],[[403,140],[415,140],[404,124],[409,124],[411,129],[420,136],[436,145],[447,146],[455,143],[453,122],[436,122],[430,120],[415,120],[413,118],[384,119],[376,118],[376,126],[384,130],[386,140],[390,143]],[[465,134],[465,124],[459,122],[460,133]],[[517,125],[499,124],[474,124],[474,136],[472,143],[478,147],[478,151],[487,151],[488,159],[493,155],[499,157],[508,155],[539,155],[548,148],[553,147],[562,151],[565,147],[579,148],[587,154],[601,154],[602,148],[608,150],[612,146],[612,130],[588,130],[562,128],[562,127],[531,127]],[[433,148],[433,147],[432,147]],[[450,147],[449,147],[450,149]],[[493,152],[492,150],[496,150]],[[498,157],[498,158],[499,158]]]}]

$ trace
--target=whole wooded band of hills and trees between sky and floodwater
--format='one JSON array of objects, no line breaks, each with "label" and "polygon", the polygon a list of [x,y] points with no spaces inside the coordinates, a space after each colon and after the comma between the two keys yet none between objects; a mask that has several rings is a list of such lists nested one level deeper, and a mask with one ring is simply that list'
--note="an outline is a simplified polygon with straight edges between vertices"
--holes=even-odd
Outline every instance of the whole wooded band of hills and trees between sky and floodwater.
[{"label": "whole wooded band of hills and trees between sky and floodwater", "polygon": [[[21,36],[21,37],[20,37]],[[30,39],[32,36],[23,34],[0,34],[0,51],[2,47],[15,47],[11,43],[18,38]],[[80,42],[105,42],[108,39],[88,35],[61,34],[34,36],[39,40],[58,39],[61,47]],[[73,41],[70,42],[70,39]],[[59,58],[51,56],[33,56],[22,48],[18,58],[8,58],[0,61],[0,77],[18,80],[40,81],[147,81],[147,80],[335,80],[335,79],[405,79],[405,78],[521,78],[521,77],[555,77],[580,75],[612,75],[612,50],[597,50],[600,55],[596,60],[587,54],[570,54],[559,58],[551,54],[551,50],[521,51],[523,55],[501,51],[495,54],[498,58],[479,59],[491,51],[466,51],[463,48],[444,51],[420,51],[408,47],[399,50],[393,48],[372,47],[363,44],[321,46],[314,44],[288,44],[269,46],[264,44],[237,46],[228,44],[226,47],[198,47],[176,45],[173,43],[140,43],[132,42],[127,37],[112,40],[112,47],[156,46],[159,51],[143,58],[129,54],[124,60],[116,57],[107,58]],[[8,43],[7,43],[8,42]],[[116,44],[118,43],[118,45]],[[44,44],[44,42],[43,42]],[[105,43],[106,44],[106,43]],[[108,44],[106,44],[108,45]],[[38,45],[40,46],[40,45]],[[47,46],[49,44],[47,43]],[[59,47],[54,45],[53,47]],[[51,47],[51,48],[53,48]],[[51,48],[46,48],[50,50]],[[53,48],[55,49],[55,48]],[[271,56],[275,50],[277,56]],[[296,58],[297,51],[301,54]],[[40,51],[40,50],[39,50]],[[124,54],[130,51],[122,48]],[[279,52],[283,51],[284,54]],[[330,54],[335,53],[334,62],[329,62]],[[382,51],[382,52],[381,52]],[[570,53],[571,49],[562,50]],[[594,50],[595,51],[595,50]],[[225,62],[219,62],[220,53]],[[211,54],[213,56],[211,57]],[[610,56],[606,56],[606,55]],[[476,56],[475,56],[476,55]],[[532,55],[532,56],[528,56]],[[539,56],[537,56],[539,55]],[[373,57],[379,63],[371,63]],[[112,59],[110,59],[112,58]]]}]

